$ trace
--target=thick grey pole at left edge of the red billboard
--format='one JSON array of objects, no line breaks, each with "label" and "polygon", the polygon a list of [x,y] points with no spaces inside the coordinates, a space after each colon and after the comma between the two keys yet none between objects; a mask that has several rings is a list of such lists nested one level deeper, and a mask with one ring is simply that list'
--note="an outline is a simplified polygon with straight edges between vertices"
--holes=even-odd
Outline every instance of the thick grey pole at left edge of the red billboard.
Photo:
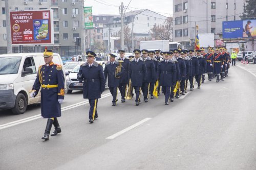
[{"label": "thick grey pole at left edge of the red billboard", "polygon": [[6,38],[7,38],[7,53],[12,53],[12,36],[11,36],[11,21],[9,1],[5,1],[5,17],[6,17]]}]

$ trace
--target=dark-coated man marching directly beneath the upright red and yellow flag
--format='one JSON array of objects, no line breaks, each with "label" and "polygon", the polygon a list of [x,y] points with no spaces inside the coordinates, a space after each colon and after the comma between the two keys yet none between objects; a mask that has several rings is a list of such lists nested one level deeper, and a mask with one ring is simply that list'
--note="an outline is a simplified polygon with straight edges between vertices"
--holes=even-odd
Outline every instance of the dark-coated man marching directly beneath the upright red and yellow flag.
[{"label": "dark-coated man marching directly beneath the upright red and yellow flag", "polygon": [[196,80],[197,80],[197,88],[200,88],[201,82],[202,82],[202,76],[206,71],[206,60],[204,59],[204,56],[201,55],[201,50],[197,50],[197,57],[198,57],[198,63],[199,63],[199,70],[198,70],[198,75],[196,75]]}]

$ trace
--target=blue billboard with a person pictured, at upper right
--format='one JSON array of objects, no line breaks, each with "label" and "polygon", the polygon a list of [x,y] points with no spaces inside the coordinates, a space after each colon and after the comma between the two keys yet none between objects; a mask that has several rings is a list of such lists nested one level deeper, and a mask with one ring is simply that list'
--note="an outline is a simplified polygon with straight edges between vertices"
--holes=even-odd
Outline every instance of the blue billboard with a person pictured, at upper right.
[{"label": "blue billboard with a person pictured, at upper right", "polygon": [[256,20],[235,20],[222,22],[223,38],[256,37]]}]

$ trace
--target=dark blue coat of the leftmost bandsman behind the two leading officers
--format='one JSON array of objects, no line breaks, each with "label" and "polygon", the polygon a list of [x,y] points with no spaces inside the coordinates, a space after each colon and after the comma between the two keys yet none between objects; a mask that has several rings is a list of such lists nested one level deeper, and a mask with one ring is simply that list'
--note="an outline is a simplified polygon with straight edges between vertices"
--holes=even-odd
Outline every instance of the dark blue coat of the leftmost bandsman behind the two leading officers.
[{"label": "dark blue coat of the leftmost bandsman behind the two leading officers", "polygon": [[[121,78],[116,78],[116,76],[115,76],[117,66],[119,66],[118,61],[115,61],[113,65],[111,64],[110,61],[108,61],[104,68],[105,81],[106,81],[106,78],[108,77],[108,86],[109,87],[118,87],[119,86],[119,82],[120,82]],[[122,71],[124,71],[123,67],[121,67],[121,72],[117,76],[121,76]]]}]

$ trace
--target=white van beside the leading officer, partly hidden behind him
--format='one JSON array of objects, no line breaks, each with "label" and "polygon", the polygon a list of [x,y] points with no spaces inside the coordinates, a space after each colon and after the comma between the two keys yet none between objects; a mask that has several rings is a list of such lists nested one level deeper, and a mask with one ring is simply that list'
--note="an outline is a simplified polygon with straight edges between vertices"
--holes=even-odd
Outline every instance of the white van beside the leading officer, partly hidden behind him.
[{"label": "white van beside the leading officer, partly hidden behind him", "polygon": [[[43,53],[0,55],[0,110],[12,109],[14,114],[23,114],[27,105],[40,102],[41,93],[39,92],[35,98],[31,98],[29,91],[36,79],[38,67],[45,64],[42,55]],[[53,62],[62,65],[65,75],[59,54],[53,54]]]}]

